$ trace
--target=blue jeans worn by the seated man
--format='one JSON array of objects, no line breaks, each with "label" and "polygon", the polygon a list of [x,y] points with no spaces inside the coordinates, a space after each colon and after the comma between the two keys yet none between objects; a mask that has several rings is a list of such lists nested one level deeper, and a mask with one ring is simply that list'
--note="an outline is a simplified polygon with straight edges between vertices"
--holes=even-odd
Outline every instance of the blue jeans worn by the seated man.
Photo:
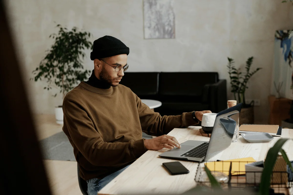
[{"label": "blue jeans worn by the seated man", "polygon": [[105,185],[107,185],[110,181],[112,181],[117,175],[119,175],[127,167],[129,167],[129,165],[110,175],[107,175],[106,177],[102,179],[93,178],[93,179],[87,180],[86,182],[88,183],[88,194],[97,195],[98,191],[100,191]]}]

